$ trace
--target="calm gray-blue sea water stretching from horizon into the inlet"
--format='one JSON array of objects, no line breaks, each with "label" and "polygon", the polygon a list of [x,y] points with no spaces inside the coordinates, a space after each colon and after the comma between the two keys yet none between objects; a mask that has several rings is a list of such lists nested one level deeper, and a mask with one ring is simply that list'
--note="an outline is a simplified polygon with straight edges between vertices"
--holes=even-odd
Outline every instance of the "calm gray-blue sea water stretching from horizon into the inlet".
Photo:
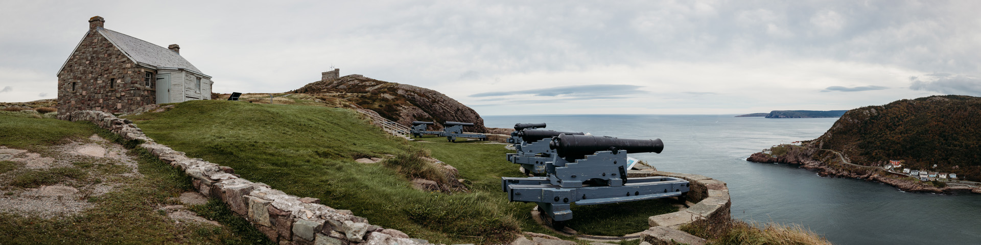
[{"label": "calm gray-blue sea water stretching from horizon into the inlet", "polygon": [[660,171],[725,181],[735,219],[797,223],[835,244],[981,244],[981,195],[906,193],[872,181],[818,176],[795,165],[746,161],[781,141],[814,139],[838,119],[734,116],[489,116],[484,123],[547,123],[545,129],[660,138],[661,154],[631,156]]}]

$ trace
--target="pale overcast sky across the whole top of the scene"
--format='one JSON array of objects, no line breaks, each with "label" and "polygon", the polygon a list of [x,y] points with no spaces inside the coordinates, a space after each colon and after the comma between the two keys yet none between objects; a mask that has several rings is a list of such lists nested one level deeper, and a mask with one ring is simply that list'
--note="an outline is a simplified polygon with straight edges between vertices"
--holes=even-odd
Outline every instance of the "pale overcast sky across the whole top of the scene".
[{"label": "pale overcast sky across the whole top of the scene", "polygon": [[[275,4],[273,4],[275,2]],[[747,114],[981,96],[981,1],[11,1],[0,102],[55,98],[88,27],[161,46],[214,90],[340,73],[482,115]]]}]

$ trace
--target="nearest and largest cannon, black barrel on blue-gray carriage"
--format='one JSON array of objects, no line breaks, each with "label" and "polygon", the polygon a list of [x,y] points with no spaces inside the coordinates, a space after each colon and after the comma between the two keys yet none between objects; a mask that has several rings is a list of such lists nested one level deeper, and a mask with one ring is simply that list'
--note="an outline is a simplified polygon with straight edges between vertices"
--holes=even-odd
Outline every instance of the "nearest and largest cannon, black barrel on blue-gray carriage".
[{"label": "nearest and largest cannon, black barrel on blue-gray carriage", "polygon": [[536,202],[542,216],[560,228],[572,220],[571,204],[596,205],[685,195],[689,182],[669,176],[627,177],[627,153],[661,153],[660,139],[621,139],[561,134],[543,177],[501,177],[511,202]]}]

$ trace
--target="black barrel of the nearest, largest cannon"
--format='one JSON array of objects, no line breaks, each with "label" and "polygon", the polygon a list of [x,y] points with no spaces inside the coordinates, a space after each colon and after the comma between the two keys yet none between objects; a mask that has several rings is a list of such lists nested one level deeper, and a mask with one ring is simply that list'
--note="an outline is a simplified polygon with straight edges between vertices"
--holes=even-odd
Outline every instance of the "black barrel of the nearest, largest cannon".
[{"label": "black barrel of the nearest, largest cannon", "polygon": [[561,134],[552,138],[548,148],[555,150],[560,158],[581,159],[597,151],[627,150],[627,153],[661,153],[664,142],[661,139],[626,139],[610,136]]}]

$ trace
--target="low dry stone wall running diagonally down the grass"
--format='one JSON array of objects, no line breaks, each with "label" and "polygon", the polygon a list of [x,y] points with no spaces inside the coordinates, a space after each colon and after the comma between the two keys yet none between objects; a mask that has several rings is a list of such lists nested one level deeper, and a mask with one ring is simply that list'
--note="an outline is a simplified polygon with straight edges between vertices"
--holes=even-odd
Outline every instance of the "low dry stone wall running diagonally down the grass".
[{"label": "low dry stone wall running diagonally down the grass", "polygon": [[279,244],[430,244],[409,238],[405,233],[373,225],[348,210],[336,210],[320,204],[316,198],[289,195],[267,184],[239,177],[229,167],[202,159],[149,138],[129,120],[98,111],[75,111],[61,120],[87,121],[119,134],[128,140],[143,141],[139,146],[161,161],[192,177],[194,188],[205,196],[225,202],[232,212],[250,221],[273,242]]}]

